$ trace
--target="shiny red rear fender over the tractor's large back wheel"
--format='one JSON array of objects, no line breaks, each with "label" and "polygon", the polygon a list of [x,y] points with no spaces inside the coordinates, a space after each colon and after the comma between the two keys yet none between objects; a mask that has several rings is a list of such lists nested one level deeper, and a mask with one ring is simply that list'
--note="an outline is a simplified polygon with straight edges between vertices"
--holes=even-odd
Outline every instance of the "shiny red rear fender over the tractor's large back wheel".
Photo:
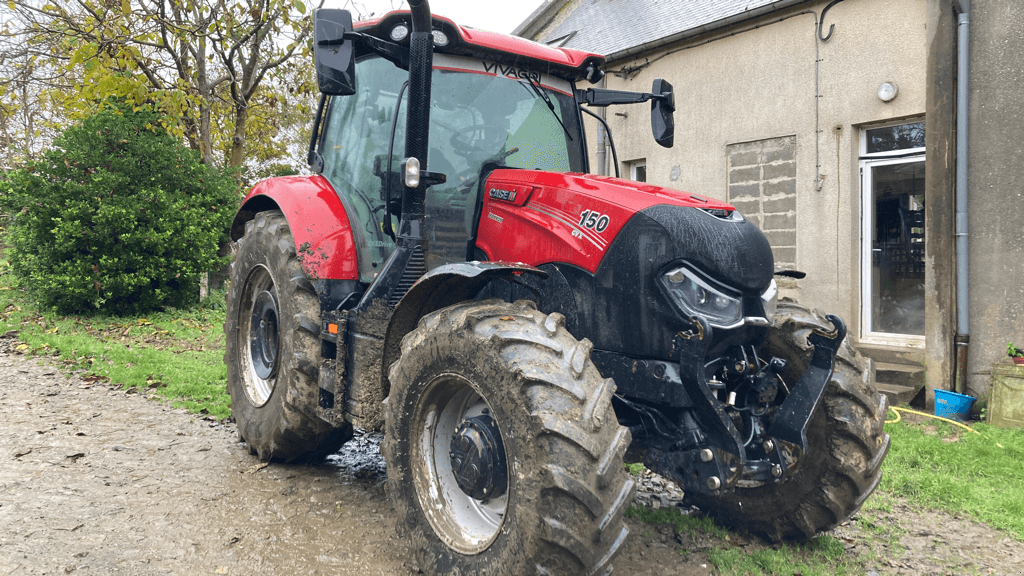
[{"label": "shiny red rear fender over the tractor's large back wheel", "polygon": [[231,240],[258,212],[280,209],[288,219],[302,270],[310,280],[358,280],[355,240],[348,214],[327,178],[281,176],[258,182],[231,222]]}]

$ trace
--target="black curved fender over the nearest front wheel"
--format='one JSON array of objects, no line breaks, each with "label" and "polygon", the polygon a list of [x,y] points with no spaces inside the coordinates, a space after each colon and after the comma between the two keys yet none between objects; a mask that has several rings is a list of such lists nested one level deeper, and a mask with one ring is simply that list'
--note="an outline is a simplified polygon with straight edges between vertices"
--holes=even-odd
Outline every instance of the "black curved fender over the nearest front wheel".
[{"label": "black curved fender over the nearest front wheel", "polygon": [[548,273],[523,263],[456,262],[435,268],[423,275],[395,306],[384,336],[381,364],[383,397],[391,389],[388,371],[401,355],[401,340],[425,315],[444,306],[472,299],[490,281],[511,280],[523,273],[547,278]]}]

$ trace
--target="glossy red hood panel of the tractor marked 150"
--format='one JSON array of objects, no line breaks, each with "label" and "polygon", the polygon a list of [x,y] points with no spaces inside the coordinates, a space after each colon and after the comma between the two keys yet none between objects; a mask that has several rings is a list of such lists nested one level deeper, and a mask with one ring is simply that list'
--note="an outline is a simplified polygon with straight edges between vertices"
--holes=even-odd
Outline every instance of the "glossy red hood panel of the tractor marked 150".
[{"label": "glossy red hood panel of the tractor marked 150", "polygon": [[634,214],[664,204],[734,209],[717,200],[608,176],[496,170],[484,187],[476,246],[492,260],[534,266],[564,262],[593,274]]}]

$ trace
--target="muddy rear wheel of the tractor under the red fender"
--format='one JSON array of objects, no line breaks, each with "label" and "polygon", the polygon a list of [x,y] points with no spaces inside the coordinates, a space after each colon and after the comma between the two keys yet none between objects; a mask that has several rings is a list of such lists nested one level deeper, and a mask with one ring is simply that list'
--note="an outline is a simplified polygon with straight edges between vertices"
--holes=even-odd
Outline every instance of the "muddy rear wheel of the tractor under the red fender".
[{"label": "muddy rear wheel of the tractor under the red fender", "polygon": [[250,452],[314,459],[352,437],[347,423],[310,416],[319,399],[319,301],[276,210],[247,222],[236,246],[224,335],[231,414]]}]

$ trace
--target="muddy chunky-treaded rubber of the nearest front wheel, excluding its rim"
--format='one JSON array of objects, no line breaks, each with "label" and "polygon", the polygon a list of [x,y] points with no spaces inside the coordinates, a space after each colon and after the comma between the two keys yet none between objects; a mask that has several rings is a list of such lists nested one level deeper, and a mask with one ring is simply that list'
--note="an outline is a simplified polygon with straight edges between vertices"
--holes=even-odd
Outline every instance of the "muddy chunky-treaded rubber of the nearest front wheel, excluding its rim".
[{"label": "muddy chunky-treaded rubber of the nearest front wheel, excluding its rim", "polygon": [[[399,399],[404,398],[398,390],[409,385],[407,380],[416,374],[416,361],[412,359],[443,340],[445,336],[439,334],[465,337],[475,342],[473,346],[489,351],[482,358],[502,359],[500,362],[518,382],[515,394],[521,400],[517,404],[530,422],[531,431],[524,444],[537,447],[522,458],[541,462],[538,490],[545,496],[538,497],[531,512],[541,530],[529,526],[503,528],[503,532],[527,531],[525,537],[534,543],[527,543],[523,558],[493,567],[487,573],[605,573],[629,533],[623,512],[632,501],[635,483],[621,464],[630,443],[629,430],[617,421],[602,421],[613,413],[614,382],[603,378],[590,361],[593,344],[586,339],[577,341],[566,331],[560,314],[545,315],[527,300],[467,301],[428,314],[402,340],[401,357],[390,367],[392,398],[387,406],[388,431],[383,445],[389,470],[404,446],[395,438],[398,427],[394,424],[408,408],[403,408],[404,402],[395,400],[396,392]],[[559,409],[552,408],[556,406]],[[404,464],[395,465],[395,469],[399,467],[403,469]],[[398,510],[398,524],[411,522],[418,504],[408,501],[397,480],[389,477],[387,487]],[[414,535],[424,530],[432,536],[429,525],[411,529]],[[614,537],[602,538],[602,534]],[[417,540],[414,536],[414,545]],[[441,573],[444,568],[437,565],[433,553],[420,553],[424,572]]]}]

